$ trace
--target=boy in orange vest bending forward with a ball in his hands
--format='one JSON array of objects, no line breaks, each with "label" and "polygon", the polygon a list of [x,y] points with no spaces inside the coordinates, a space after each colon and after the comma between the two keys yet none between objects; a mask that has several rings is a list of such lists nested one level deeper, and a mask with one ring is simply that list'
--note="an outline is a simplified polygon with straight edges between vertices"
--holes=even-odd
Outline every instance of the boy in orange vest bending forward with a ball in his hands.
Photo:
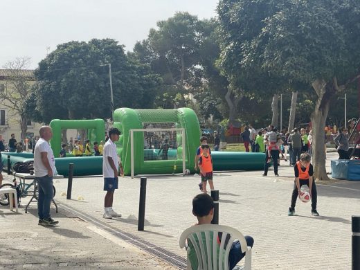
[{"label": "boy in orange vest bending forward with a ball in his hands", "polygon": [[296,162],[294,165],[295,184],[291,197],[291,206],[287,215],[295,214],[296,199],[298,199],[298,197],[300,198],[302,193],[300,188],[301,186],[306,185],[309,187],[309,194],[312,196],[312,215],[318,216],[318,211],[316,210],[318,194],[316,192],[315,181],[313,178],[314,168],[310,163],[311,160],[312,157],[309,154],[303,153],[300,155],[300,161]]}]

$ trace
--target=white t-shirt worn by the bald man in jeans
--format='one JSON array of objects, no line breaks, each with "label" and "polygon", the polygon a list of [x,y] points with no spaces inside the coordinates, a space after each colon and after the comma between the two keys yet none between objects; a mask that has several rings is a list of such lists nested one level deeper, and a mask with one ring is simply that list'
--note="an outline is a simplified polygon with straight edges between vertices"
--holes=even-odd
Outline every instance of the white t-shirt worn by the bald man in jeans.
[{"label": "white t-shirt worn by the bald man in jeans", "polygon": [[39,138],[39,141],[37,141],[34,150],[35,177],[44,177],[48,174],[48,169],[46,169],[44,163],[42,163],[42,152],[48,153],[48,163],[50,164],[51,170],[53,170],[53,175],[56,175],[57,170],[55,167],[55,157],[53,150],[47,141],[45,141],[43,138]]}]

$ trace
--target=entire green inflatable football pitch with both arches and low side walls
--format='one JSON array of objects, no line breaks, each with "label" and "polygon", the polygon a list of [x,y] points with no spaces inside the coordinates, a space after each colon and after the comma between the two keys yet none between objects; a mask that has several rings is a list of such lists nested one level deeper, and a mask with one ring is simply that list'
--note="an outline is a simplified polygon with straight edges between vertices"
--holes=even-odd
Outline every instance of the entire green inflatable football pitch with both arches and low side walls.
[{"label": "entire green inflatable football pitch with both arches and low side walls", "polygon": [[[192,109],[129,109],[120,108],[114,111],[114,127],[120,132],[116,142],[118,155],[123,163],[125,175],[132,174],[170,174],[181,173],[185,169],[195,172],[195,153],[201,136],[199,120]],[[94,141],[105,140],[105,121],[95,120],[59,120],[50,124],[53,129],[51,147],[55,156],[60,153],[62,129],[87,129],[88,138]],[[160,147],[145,149],[147,136],[154,135],[172,138],[172,147],[166,159],[159,154]],[[30,161],[32,153],[2,153],[3,167],[10,163]],[[262,170],[264,153],[212,152],[213,168],[224,170]],[[55,158],[59,174],[69,174],[69,163],[74,163],[74,175],[102,174],[102,156],[83,156]],[[133,166],[132,166],[133,164]],[[133,170],[132,170],[133,168]]]}]

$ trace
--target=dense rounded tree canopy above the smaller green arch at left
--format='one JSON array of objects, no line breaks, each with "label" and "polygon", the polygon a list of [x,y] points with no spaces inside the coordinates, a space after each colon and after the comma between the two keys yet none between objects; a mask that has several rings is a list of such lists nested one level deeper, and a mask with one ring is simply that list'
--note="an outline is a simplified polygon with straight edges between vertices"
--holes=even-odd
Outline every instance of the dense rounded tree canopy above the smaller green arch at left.
[{"label": "dense rounded tree canopy above the smaller green arch at left", "polygon": [[53,118],[110,118],[108,64],[115,108],[153,107],[161,79],[150,66],[127,57],[114,39],[91,39],[60,44],[39,62],[28,113],[46,123]]}]

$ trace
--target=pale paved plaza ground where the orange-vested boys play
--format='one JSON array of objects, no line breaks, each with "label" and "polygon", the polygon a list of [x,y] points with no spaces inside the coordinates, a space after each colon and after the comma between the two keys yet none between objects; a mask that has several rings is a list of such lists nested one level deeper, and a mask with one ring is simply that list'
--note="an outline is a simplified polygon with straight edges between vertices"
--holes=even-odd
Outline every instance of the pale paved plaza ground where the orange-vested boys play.
[{"label": "pale paved plaza ground where the orange-vested boys play", "polygon": [[[330,154],[328,159],[335,156]],[[220,192],[219,223],[233,226],[255,239],[253,269],[350,269],[350,220],[351,215],[360,213],[360,182],[330,181],[318,184],[318,212],[321,216],[312,217],[310,204],[298,201],[297,215],[288,217],[287,209],[294,185],[293,169],[282,161],[280,177],[271,177],[272,171],[269,177],[262,177],[261,174],[221,172],[215,174],[214,178],[215,188]],[[152,254],[157,250],[157,255],[165,258],[170,251],[170,254],[185,257],[185,251],[179,249],[179,235],[196,222],[191,213],[191,201],[199,193],[198,182],[199,179],[193,176],[148,177],[144,232],[137,231],[137,221],[133,220],[134,216],[138,216],[138,178],[120,179],[114,209],[123,214],[121,218],[101,217],[105,195],[101,177],[74,179],[73,200],[61,196],[62,192],[66,192],[67,179],[56,180],[55,199],[60,203],[60,208],[86,221],[84,227],[87,228],[87,235],[98,234],[101,238],[106,233],[111,235],[109,232],[118,231],[120,238],[127,239],[126,243],[143,242],[142,248]],[[84,201],[78,201],[79,196],[84,197]],[[3,208],[0,209],[5,212]],[[60,219],[59,229],[64,226],[66,229],[64,219]],[[82,224],[80,220],[71,220],[73,224],[69,224],[69,228]],[[97,231],[99,228],[100,232]],[[51,235],[58,237],[57,233]],[[126,238],[134,236],[138,239]],[[91,243],[83,238],[75,242],[87,248],[96,245],[96,242]],[[22,244],[23,241],[19,244],[19,250]],[[67,253],[62,243],[58,249]],[[100,261],[101,258],[99,255],[94,260]],[[141,263],[138,265],[143,265]]]}]

